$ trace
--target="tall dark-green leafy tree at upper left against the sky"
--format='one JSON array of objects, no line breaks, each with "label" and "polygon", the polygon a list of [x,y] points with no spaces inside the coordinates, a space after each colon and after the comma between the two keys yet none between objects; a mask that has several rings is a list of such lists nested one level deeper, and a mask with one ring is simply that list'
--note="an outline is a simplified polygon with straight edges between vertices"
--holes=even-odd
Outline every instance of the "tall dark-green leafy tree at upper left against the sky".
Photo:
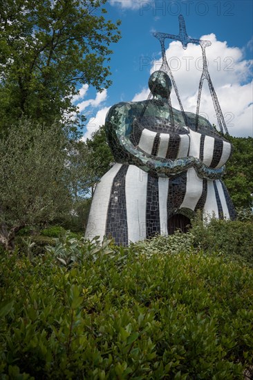
[{"label": "tall dark-green leafy tree at upper left against the sky", "polygon": [[106,0],[2,0],[0,131],[23,114],[50,124],[70,120],[77,86],[111,81],[109,46],[120,21],[106,20]]}]

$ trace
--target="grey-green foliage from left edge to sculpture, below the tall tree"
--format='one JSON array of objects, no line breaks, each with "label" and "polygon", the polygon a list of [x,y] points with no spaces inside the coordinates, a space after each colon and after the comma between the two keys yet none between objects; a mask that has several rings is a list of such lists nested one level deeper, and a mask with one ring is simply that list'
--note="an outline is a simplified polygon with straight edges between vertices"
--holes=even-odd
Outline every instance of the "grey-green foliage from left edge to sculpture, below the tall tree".
[{"label": "grey-green foliage from left edge to sculpture, below the tall tree", "polygon": [[14,249],[19,229],[26,236],[49,222],[84,233],[91,203],[85,197],[102,175],[95,153],[82,141],[70,142],[59,124],[21,118],[12,126],[0,140],[0,243],[6,249]]}]

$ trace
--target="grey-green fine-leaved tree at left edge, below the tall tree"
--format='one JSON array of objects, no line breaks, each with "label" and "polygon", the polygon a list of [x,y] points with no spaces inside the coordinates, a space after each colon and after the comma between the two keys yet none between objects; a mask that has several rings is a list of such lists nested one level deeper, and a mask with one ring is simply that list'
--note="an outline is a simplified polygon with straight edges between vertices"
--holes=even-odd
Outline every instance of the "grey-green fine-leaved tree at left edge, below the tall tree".
[{"label": "grey-green fine-leaved tree at left edge, below the tall tree", "polygon": [[6,249],[14,248],[19,229],[71,210],[67,148],[61,126],[26,119],[0,140],[0,243]]}]

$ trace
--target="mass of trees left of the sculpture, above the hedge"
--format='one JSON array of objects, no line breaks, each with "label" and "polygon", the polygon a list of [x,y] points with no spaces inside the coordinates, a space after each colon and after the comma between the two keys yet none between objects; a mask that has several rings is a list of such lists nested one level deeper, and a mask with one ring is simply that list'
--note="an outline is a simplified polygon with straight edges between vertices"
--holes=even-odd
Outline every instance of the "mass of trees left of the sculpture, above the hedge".
[{"label": "mass of trees left of the sculpture, above the hedge", "polygon": [[86,120],[73,97],[111,84],[120,21],[104,3],[0,3],[0,244],[9,251],[25,226],[85,229],[86,198],[108,160],[80,140]]}]

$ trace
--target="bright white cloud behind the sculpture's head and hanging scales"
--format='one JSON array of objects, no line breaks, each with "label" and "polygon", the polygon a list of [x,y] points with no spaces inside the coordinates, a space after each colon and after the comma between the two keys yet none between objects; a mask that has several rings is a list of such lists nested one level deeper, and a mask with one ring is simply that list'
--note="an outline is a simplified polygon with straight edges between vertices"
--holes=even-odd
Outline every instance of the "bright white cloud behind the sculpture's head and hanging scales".
[{"label": "bright white cloud behind the sculpture's head and hanging scales", "polygon": [[[200,38],[212,41],[212,46],[206,48],[208,70],[229,133],[235,136],[253,136],[252,82],[247,83],[251,77],[252,61],[243,59],[243,50],[228,47],[226,41],[217,41],[213,33]],[[172,41],[166,50],[166,55],[178,86],[182,105],[185,111],[195,113],[203,63],[200,46],[188,44],[187,49],[183,50],[179,41]],[[161,60],[153,61],[151,73],[160,66]],[[148,95],[149,90],[144,88],[135,94],[133,100],[144,100]],[[171,102],[174,108],[179,108],[174,91],[171,93]],[[201,96],[200,113],[208,117],[211,123],[217,124],[206,81]]]}]

